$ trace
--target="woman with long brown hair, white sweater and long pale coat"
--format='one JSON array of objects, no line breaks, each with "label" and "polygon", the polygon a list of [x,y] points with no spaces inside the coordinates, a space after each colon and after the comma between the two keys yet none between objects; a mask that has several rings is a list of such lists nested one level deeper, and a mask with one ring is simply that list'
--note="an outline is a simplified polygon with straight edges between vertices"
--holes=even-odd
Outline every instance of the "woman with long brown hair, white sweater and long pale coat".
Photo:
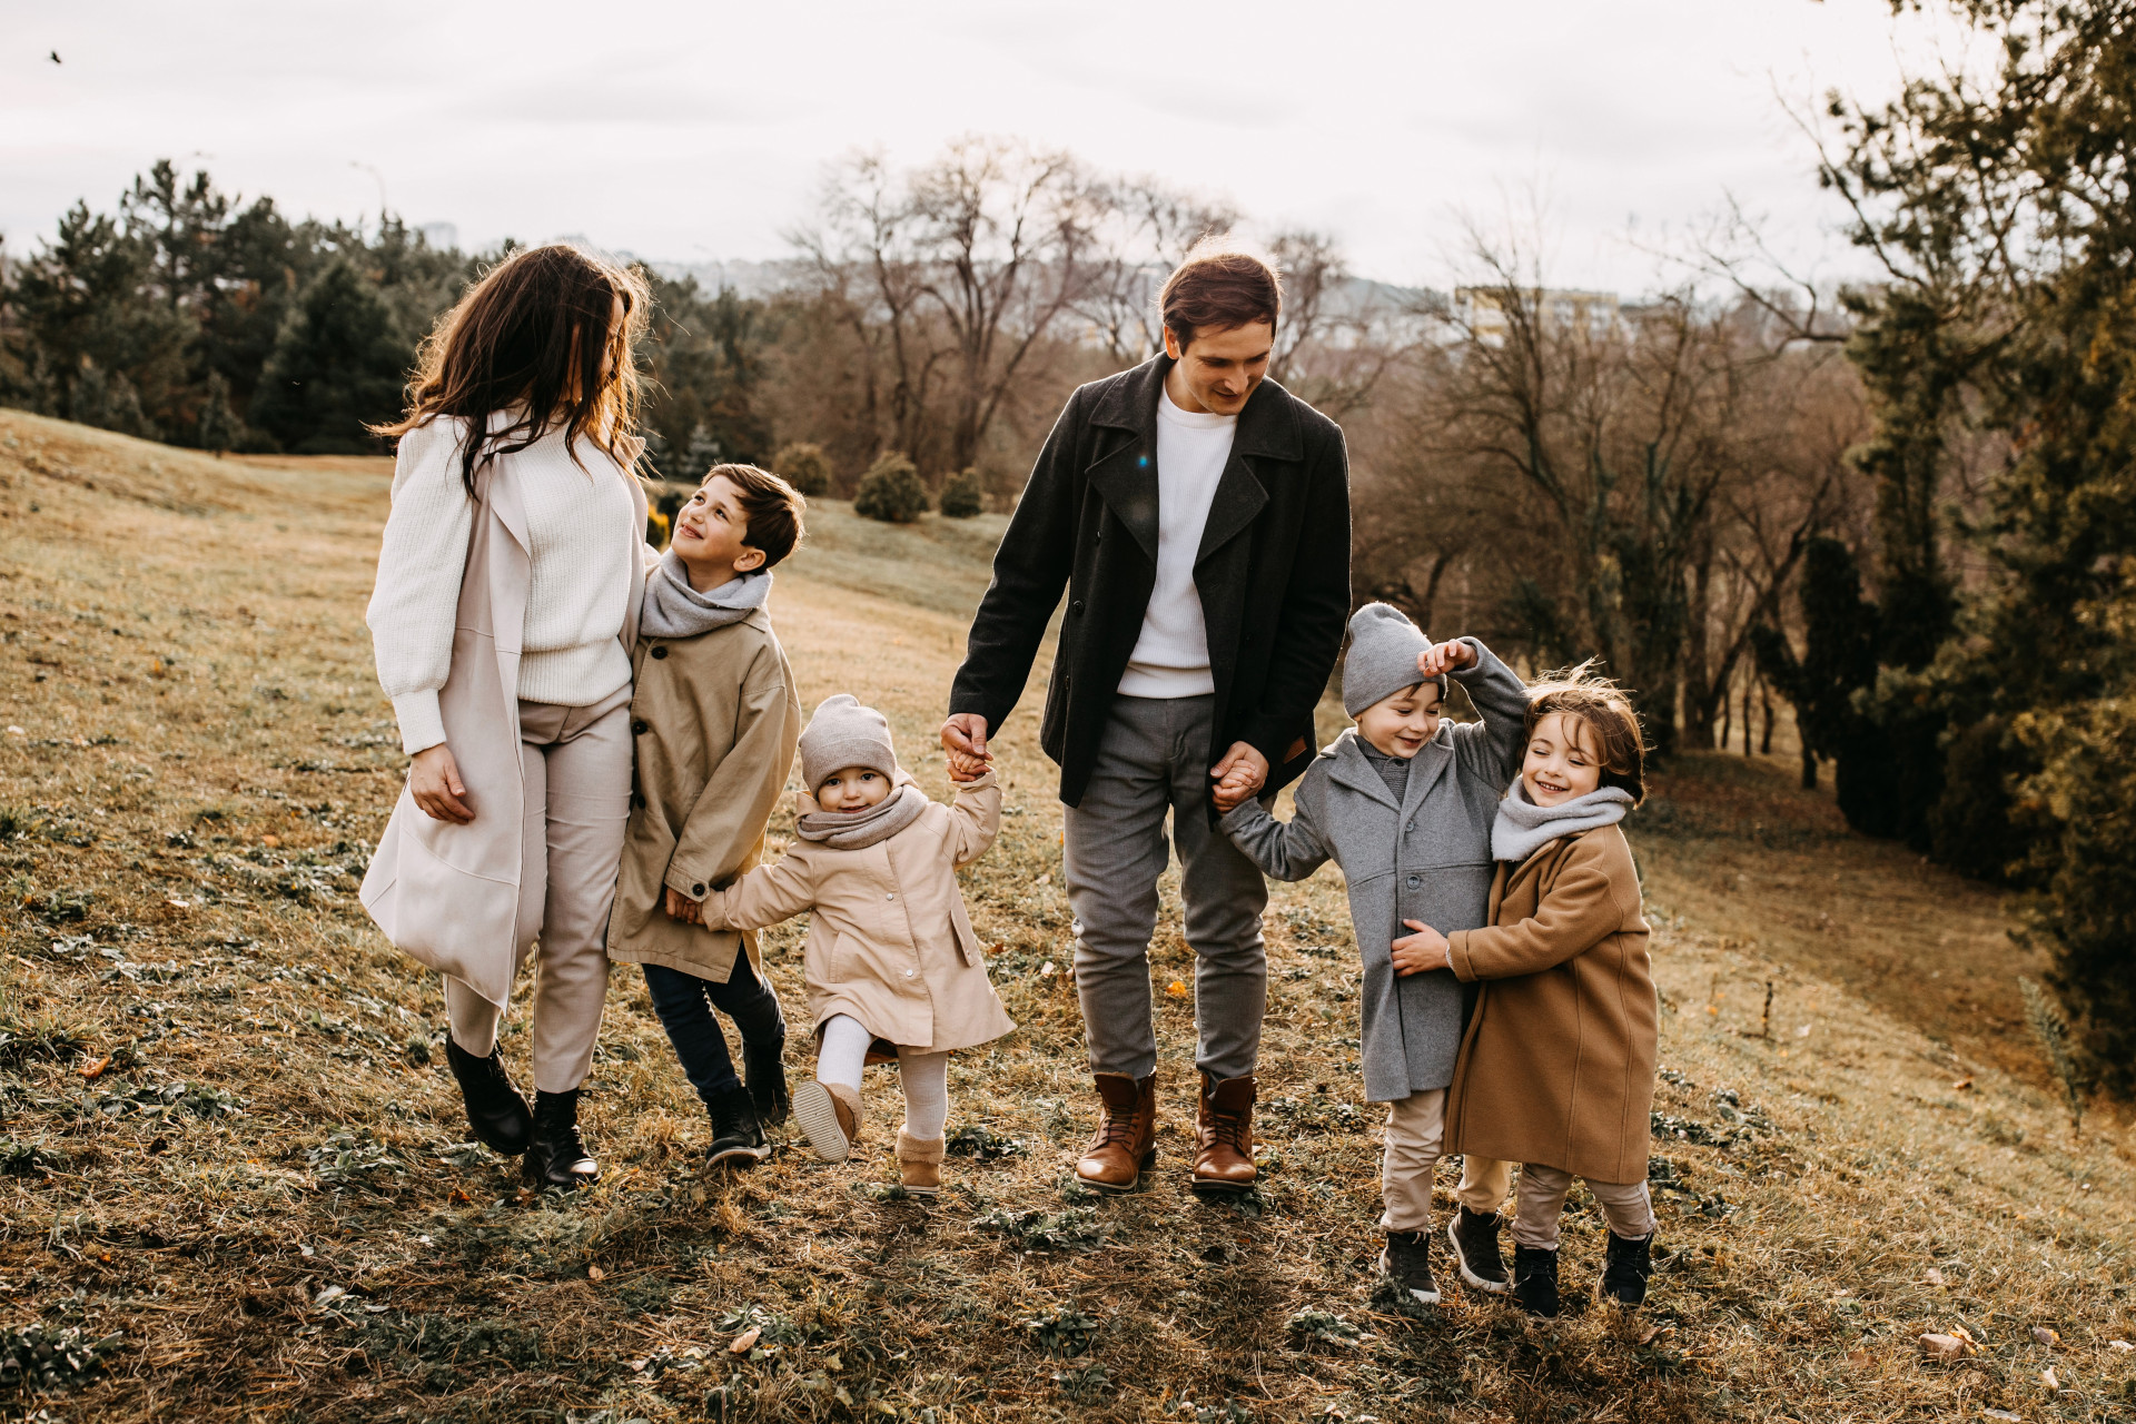
[{"label": "woman with long brown hair, white sweater and long pale coat", "polygon": [[[594,1181],[579,1087],[607,993],[630,816],[630,645],[645,493],[630,474],[645,284],[566,246],[515,252],[440,318],[408,389],[365,621],[408,786],[363,880],[444,974],[474,1136],[538,1187]],[[534,1108],[498,1053],[540,939]]]}]

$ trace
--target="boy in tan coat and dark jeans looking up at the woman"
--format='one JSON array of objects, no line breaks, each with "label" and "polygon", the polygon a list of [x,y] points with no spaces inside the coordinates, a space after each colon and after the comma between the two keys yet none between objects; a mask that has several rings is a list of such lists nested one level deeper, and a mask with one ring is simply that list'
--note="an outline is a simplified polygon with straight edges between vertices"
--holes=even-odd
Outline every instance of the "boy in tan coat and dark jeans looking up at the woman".
[{"label": "boy in tan coat and dark jeans looking up at the woman", "polygon": [[[609,959],[645,969],[654,1012],[711,1114],[709,1164],[760,1159],[763,1125],[788,1110],[786,1018],[756,935],[707,929],[698,905],[763,858],[795,760],[801,702],[765,600],[771,566],[801,540],[801,512],[775,474],[716,465],[647,579],[632,660],[637,788]],[[713,1010],[741,1033],[748,1087]]]}]

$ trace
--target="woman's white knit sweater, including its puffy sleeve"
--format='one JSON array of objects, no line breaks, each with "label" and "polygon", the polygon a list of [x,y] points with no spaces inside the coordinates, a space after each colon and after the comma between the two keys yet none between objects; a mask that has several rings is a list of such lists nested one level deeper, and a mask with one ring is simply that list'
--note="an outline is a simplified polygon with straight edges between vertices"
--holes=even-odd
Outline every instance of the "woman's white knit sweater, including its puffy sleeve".
[{"label": "woman's white knit sweater, including its puffy sleeve", "polygon": [[[393,698],[410,756],[444,741],[438,690],[453,670],[459,579],[474,532],[474,500],[459,482],[464,429],[464,421],[438,418],[402,436],[378,585],[363,617],[378,683]],[[628,476],[587,440],[579,442],[581,470],[562,433],[504,459],[525,504],[530,544],[519,696],[564,707],[598,702],[630,681],[617,636],[643,534],[630,527]]]}]

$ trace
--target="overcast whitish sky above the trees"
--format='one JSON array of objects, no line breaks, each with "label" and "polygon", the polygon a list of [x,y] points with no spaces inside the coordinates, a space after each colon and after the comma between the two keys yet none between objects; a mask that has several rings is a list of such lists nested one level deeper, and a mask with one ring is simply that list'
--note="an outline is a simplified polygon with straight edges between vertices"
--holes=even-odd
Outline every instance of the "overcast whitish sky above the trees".
[{"label": "overcast whitish sky above the trees", "polygon": [[1333,231],[1393,282],[1448,284],[1459,216],[1532,192],[1561,286],[1647,286],[1625,235],[1728,190],[1837,273],[1784,100],[1892,92],[1954,43],[1927,23],[1886,0],[0,0],[0,233],[19,256],[171,156],[295,213],[376,213],[382,181],[464,246],[767,258],[824,160],[1002,132]]}]

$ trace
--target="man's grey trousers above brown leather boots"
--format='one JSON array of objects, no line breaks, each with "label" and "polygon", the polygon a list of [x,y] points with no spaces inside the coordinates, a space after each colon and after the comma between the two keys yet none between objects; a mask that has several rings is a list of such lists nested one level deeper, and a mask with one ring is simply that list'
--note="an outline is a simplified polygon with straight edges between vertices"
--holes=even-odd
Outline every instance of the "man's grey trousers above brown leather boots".
[{"label": "man's grey trousers above brown leather boots", "polygon": [[[1149,1016],[1149,935],[1158,875],[1179,850],[1194,965],[1194,1065],[1245,1078],[1260,1057],[1269,886],[1209,824],[1209,719],[1215,698],[1113,698],[1083,803],[1064,807],[1062,871],[1074,914],[1074,986],[1089,1067],[1147,1078],[1158,1067]],[[1171,843],[1164,816],[1171,811]]]}]

